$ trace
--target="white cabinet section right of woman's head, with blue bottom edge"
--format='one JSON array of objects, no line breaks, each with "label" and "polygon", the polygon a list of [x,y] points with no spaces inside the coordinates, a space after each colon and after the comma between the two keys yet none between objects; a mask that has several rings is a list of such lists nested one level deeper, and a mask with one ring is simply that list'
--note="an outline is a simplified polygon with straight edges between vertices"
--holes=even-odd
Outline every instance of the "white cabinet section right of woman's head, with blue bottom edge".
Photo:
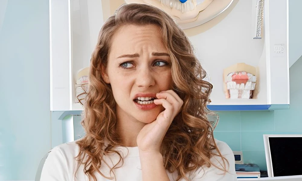
[{"label": "white cabinet section right of woman's head, with blue bottom edge", "polygon": [[[211,110],[289,108],[288,1],[264,1],[261,39],[253,39],[256,5],[256,0],[233,2],[217,21],[185,30],[211,77]],[[257,68],[253,99],[227,99],[224,94],[223,70],[237,63]]]}]

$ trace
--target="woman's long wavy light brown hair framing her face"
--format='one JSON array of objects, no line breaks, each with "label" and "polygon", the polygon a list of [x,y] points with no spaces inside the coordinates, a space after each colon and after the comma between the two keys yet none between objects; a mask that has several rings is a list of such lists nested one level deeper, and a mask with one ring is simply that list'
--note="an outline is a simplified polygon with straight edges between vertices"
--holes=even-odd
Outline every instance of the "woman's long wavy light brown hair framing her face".
[{"label": "woman's long wavy light brown hair framing her face", "polygon": [[[160,27],[164,46],[172,62],[171,74],[173,89],[184,101],[180,113],[174,118],[161,144],[165,169],[170,173],[177,171],[177,180],[201,166],[211,165],[227,171],[228,161],[221,155],[213,136],[213,126],[207,119],[213,114],[207,109],[212,85],[204,81],[206,72],[194,56],[193,47],[183,30],[164,11],[149,5],[121,5],[104,23],[98,37],[98,43],[92,53],[89,72],[89,91],[85,98],[82,120],[86,132],[84,138],[76,143],[79,154],[76,159],[84,164],[84,172],[89,179],[96,180],[94,173],[105,178],[100,169],[102,164],[109,167],[103,157],[118,154],[118,164],[123,164],[123,157],[114,148],[121,146],[116,131],[116,102],[110,84],[106,84],[101,71],[108,63],[111,40],[114,33],[124,25],[157,25]],[[217,150],[215,154],[213,150]],[[212,164],[210,158],[222,158],[220,165]],[[79,168],[78,168],[79,169]],[[79,171],[79,170],[77,170]]]}]

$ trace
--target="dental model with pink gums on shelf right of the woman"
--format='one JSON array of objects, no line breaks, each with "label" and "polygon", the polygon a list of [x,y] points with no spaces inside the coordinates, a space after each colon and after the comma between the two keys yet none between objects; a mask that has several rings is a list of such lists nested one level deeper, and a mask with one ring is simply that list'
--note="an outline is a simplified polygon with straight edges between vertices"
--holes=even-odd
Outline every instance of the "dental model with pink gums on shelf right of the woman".
[{"label": "dental model with pink gums on shelf right of the woman", "polygon": [[256,87],[256,68],[238,63],[224,69],[224,91],[227,99],[252,99]]}]

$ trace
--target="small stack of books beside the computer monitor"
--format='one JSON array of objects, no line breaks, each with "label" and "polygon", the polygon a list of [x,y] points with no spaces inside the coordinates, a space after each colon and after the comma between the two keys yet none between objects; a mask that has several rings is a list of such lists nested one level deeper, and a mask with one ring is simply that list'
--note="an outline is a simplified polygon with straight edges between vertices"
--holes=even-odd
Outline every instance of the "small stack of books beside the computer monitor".
[{"label": "small stack of books beside the computer monitor", "polygon": [[237,180],[258,180],[260,169],[256,164],[235,164]]}]

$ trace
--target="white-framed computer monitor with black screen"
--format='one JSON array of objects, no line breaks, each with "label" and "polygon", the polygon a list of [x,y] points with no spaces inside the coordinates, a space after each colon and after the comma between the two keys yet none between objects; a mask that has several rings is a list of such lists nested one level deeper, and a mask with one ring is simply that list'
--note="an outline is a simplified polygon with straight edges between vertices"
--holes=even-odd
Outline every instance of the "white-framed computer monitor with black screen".
[{"label": "white-framed computer monitor with black screen", "polygon": [[302,135],[263,135],[268,177],[302,175]]}]

